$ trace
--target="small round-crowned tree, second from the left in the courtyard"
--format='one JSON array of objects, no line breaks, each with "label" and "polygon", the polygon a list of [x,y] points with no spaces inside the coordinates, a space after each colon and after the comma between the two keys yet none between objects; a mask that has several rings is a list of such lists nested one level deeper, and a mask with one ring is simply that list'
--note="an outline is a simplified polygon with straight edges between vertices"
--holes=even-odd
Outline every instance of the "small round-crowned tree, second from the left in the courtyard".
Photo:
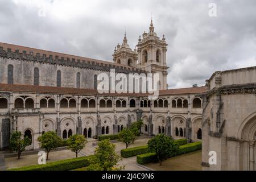
[{"label": "small round-crowned tree, second from the left in the courtyard", "polygon": [[62,140],[54,131],[47,131],[40,137],[38,137],[39,145],[47,152],[47,158],[49,159],[49,151],[60,146]]}]

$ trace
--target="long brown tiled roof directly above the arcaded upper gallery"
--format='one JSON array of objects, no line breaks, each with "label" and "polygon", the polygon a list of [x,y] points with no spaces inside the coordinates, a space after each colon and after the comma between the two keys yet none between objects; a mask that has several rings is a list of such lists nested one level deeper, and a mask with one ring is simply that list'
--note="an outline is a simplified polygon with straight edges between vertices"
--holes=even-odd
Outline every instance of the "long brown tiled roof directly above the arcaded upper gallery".
[{"label": "long brown tiled roof directly above the arcaded upper gallery", "polygon": [[[50,93],[50,94],[78,94],[78,95],[105,95],[105,96],[147,96],[147,94],[100,94],[94,89],[77,89],[77,88],[64,88],[56,86],[34,86],[34,85],[19,85],[19,84],[0,84],[0,91],[2,92],[27,92],[27,93]],[[168,89],[160,90],[159,95],[176,95],[176,94],[194,94],[206,92],[205,86],[195,88],[181,88],[181,89]]]}]

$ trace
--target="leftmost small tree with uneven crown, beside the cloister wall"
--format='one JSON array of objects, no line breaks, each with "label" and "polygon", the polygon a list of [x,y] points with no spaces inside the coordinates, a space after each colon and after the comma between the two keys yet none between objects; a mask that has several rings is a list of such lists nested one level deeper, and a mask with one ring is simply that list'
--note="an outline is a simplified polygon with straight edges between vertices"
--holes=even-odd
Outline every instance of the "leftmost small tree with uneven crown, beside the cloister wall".
[{"label": "leftmost small tree with uneven crown, beside the cloister wall", "polygon": [[31,144],[31,139],[27,136],[22,139],[20,131],[14,131],[10,138],[10,148],[13,151],[18,152],[18,159],[27,146]]}]

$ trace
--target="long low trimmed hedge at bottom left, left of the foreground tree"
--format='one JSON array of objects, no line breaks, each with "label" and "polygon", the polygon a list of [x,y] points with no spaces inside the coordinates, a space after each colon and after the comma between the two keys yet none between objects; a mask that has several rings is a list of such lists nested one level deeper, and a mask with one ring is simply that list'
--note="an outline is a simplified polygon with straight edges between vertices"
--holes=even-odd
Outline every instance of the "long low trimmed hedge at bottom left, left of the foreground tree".
[{"label": "long low trimmed hedge at bottom left, left of the foreground tree", "polygon": [[65,159],[42,165],[24,166],[8,169],[9,171],[69,171],[72,169],[89,166],[92,155],[81,158]]}]

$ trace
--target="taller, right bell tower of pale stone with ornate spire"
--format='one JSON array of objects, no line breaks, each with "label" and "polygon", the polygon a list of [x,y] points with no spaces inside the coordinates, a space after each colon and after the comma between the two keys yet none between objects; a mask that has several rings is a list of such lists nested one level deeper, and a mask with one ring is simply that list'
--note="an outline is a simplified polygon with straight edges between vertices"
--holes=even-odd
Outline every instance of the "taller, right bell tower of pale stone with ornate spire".
[{"label": "taller, right bell tower of pale stone with ornate spire", "polygon": [[167,46],[166,39],[160,40],[154,31],[154,25],[151,18],[149,32],[139,36],[137,44],[138,52],[138,65],[140,69],[144,69],[150,73],[159,73],[159,90],[167,89],[167,67],[166,65],[166,52]]}]

